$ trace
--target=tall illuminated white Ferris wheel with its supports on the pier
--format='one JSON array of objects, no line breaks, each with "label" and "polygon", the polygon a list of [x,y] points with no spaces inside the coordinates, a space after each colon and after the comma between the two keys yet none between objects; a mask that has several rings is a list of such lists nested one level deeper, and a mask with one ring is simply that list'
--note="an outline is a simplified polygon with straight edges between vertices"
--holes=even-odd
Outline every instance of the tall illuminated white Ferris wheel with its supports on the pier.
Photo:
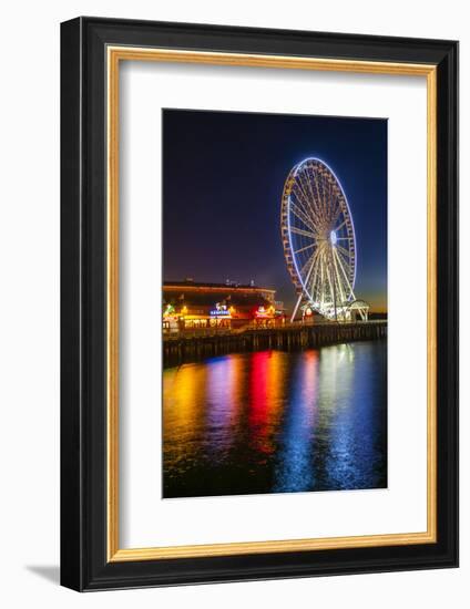
[{"label": "tall illuminated white Ferris wheel with its supports on the pier", "polygon": [[330,320],[367,319],[368,304],[356,300],[356,234],[343,187],[328,165],[306,158],[284,185],[280,230],[287,269],[299,308]]}]

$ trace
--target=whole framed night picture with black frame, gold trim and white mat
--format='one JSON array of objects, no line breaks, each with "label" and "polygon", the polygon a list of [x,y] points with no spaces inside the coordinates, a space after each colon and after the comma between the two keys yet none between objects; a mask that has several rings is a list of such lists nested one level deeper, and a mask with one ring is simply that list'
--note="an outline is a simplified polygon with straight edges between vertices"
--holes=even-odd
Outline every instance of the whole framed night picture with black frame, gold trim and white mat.
[{"label": "whole framed night picture with black frame, gold trim and white mat", "polygon": [[458,565],[458,43],[61,27],[61,581]]}]

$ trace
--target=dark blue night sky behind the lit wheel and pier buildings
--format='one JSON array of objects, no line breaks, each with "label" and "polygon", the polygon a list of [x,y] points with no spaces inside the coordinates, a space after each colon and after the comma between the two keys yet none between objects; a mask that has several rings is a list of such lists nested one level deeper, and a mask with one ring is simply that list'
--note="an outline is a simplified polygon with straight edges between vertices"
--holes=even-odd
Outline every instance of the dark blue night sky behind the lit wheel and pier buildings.
[{"label": "dark blue night sky behind the lit wheel and pier buildings", "polygon": [[280,198],[294,165],[325,161],[356,230],[356,298],[387,310],[387,121],[163,111],[164,280],[295,291],[280,240]]}]

